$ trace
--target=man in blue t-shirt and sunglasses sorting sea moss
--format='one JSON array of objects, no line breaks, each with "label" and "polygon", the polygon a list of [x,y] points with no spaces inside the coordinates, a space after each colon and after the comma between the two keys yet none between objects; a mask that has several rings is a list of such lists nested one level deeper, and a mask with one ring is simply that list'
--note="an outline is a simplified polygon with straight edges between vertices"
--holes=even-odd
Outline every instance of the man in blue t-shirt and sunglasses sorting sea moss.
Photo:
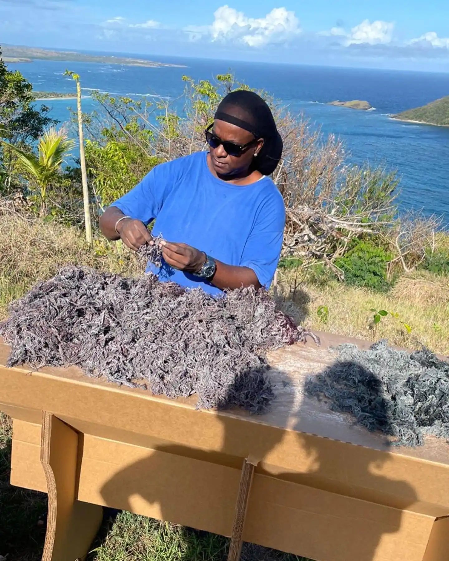
[{"label": "man in blue t-shirt and sunglasses sorting sea moss", "polygon": [[162,236],[163,263],[147,268],[162,282],[212,295],[269,288],[285,226],[282,196],[268,177],[282,155],[273,115],[257,94],[234,91],[205,134],[209,153],[157,165],[106,210],[100,229],[134,251]]}]

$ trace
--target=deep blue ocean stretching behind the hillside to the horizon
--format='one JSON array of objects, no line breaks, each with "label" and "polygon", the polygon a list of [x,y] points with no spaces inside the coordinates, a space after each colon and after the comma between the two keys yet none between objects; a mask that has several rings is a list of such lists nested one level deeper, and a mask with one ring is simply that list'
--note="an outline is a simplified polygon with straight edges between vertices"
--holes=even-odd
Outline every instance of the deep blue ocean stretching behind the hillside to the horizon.
[{"label": "deep blue ocean stretching behind the hillside to the horizon", "polygon": [[[114,53],[121,56],[121,53]],[[129,55],[127,55],[129,56]],[[184,89],[183,75],[195,80],[213,79],[232,72],[252,88],[263,89],[320,127],[323,135],[334,134],[345,142],[350,163],[381,165],[401,178],[398,203],[401,211],[422,210],[442,215],[449,227],[449,127],[416,125],[388,117],[449,95],[449,73],[365,70],[314,67],[209,59],[161,58],[135,55],[185,68],[146,68],[86,62],[34,61],[10,64],[40,91],[74,91],[74,82],[63,76],[66,68],[80,75],[83,111],[94,109],[91,90],[117,95],[147,95],[154,99],[178,98]],[[327,105],[332,100],[362,99],[372,111],[355,111]],[[74,100],[45,103],[51,116],[67,121]]]}]

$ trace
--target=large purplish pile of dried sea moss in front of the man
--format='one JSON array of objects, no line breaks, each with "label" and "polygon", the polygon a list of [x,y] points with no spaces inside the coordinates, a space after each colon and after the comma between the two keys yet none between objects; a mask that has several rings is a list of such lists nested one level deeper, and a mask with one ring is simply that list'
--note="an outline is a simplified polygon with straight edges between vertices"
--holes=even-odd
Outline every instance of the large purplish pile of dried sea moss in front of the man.
[{"label": "large purplish pile of dried sea moss in front of the man", "polygon": [[8,366],[79,366],[90,376],[145,381],[171,398],[198,394],[198,407],[263,412],[273,390],[265,351],[306,332],[253,288],[213,298],[153,275],[126,279],[70,266],[10,307],[0,334]]}]

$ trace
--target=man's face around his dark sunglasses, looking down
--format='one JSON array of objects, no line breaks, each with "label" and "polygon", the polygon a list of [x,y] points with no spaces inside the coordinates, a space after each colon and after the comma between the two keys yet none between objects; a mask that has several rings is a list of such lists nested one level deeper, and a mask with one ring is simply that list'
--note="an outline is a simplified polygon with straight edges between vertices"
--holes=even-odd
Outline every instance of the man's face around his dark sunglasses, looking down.
[{"label": "man's face around his dark sunglasses, looking down", "polygon": [[[220,121],[219,119],[214,121],[211,132],[223,141],[233,142],[238,145],[244,145],[254,140],[254,136],[251,132],[245,131],[244,128],[237,127],[236,125],[231,125],[231,123],[227,123],[226,121]],[[210,163],[218,175],[239,175],[248,170],[251,162],[253,162],[254,153],[260,148],[260,144],[262,144],[262,142],[250,146],[245,149],[240,156],[227,154],[223,145],[219,145],[218,148],[212,148],[212,146],[210,146]]]}]

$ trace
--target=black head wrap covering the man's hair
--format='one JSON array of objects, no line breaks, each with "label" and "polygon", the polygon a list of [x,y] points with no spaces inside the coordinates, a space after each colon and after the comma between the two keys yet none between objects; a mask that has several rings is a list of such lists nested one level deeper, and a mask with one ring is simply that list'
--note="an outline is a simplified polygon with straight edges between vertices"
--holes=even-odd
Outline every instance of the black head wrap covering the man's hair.
[{"label": "black head wrap covering the man's hair", "polygon": [[271,109],[259,95],[254,91],[232,91],[218,105],[214,118],[244,128],[256,139],[263,139],[262,150],[254,159],[255,167],[263,175],[274,172],[282,156],[282,138]]}]

